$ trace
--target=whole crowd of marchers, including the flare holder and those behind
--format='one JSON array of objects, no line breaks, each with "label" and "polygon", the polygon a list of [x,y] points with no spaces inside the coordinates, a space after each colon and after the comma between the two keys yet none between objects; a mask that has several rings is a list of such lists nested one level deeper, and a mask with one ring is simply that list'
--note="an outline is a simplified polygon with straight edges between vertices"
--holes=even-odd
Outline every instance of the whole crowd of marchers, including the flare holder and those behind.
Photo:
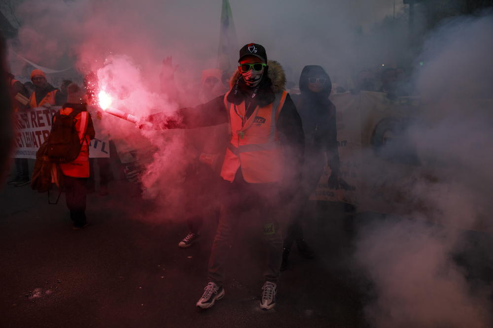
[{"label": "whole crowd of marchers, including the flare holder and those behind", "polygon": [[[380,83],[376,83],[375,72],[361,70],[347,91],[332,83],[321,66],[308,65],[301,72],[298,87],[291,83],[288,93],[281,64],[268,60],[265,48],[256,43],[242,47],[234,72],[215,68],[202,71],[198,90],[176,85],[176,67],[171,58],[165,59],[160,80],[162,93],[180,104],[180,119],[159,113],[144,118],[138,126],[186,129],[193,159],[183,183],[188,195],[184,207],[189,231],[178,246],[190,247],[200,237],[205,213],[215,213],[217,230],[208,284],[197,306],[209,308],[224,296],[230,244],[243,230],[246,219],[242,215],[248,213],[248,220],[255,221],[265,240],[267,262],[260,307],[271,309],[276,304],[280,272],[288,266],[293,245],[306,258],[315,257],[302,226],[309,197],[325,164],[331,169],[329,188],[347,185],[339,176],[336,108],[329,96],[361,91],[384,92],[389,98],[403,96],[407,92],[404,72],[384,68],[379,72]],[[33,70],[31,82],[25,84],[12,75],[7,78],[16,111],[61,106],[50,135],[67,117],[75,122],[79,153],[58,167],[73,228],[86,227],[86,195],[94,190],[94,162],[100,168],[102,195],[108,193],[112,177],[109,159],[89,159],[89,142],[98,133],[93,124],[98,107],[96,75],[87,74],[83,86],[65,80],[60,89],[50,85],[39,69]],[[16,176],[7,183],[17,187],[29,184],[28,160],[15,159],[15,168]],[[219,190],[220,197],[210,190]]]}]

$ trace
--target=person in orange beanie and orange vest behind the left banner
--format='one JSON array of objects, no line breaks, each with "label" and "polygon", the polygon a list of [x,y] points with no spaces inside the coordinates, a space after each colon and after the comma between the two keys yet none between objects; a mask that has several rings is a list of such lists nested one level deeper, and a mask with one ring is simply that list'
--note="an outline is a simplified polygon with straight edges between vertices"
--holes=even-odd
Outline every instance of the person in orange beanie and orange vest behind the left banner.
[{"label": "person in orange beanie and orange vest behind the left banner", "polygon": [[31,81],[33,81],[35,90],[29,98],[30,108],[63,105],[65,101],[62,93],[46,81],[46,75],[42,70],[33,69]]}]

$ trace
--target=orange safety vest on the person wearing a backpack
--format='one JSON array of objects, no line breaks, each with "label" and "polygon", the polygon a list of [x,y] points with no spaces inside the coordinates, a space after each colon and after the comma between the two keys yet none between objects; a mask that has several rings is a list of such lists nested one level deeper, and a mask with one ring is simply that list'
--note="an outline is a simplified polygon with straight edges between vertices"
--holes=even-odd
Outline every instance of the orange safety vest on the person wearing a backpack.
[{"label": "orange safety vest on the person wearing a backpack", "polygon": [[[60,114],[69,115],[73,111],[72,108],[66,107],[60,109]],[[79,139],[82,138],[87,130],[87,125],[89,123],[89,113],[84,111],[80,112],[75,116],[75,129],[79,133]],[[60,169],[63,174],[67,176],[73,176],[76,178],[88,178],[89,177],[89,136],[85,136],[85,141],[82,143],[80,148],[79,156],[75,160],[69,163],[60,163]]]}]

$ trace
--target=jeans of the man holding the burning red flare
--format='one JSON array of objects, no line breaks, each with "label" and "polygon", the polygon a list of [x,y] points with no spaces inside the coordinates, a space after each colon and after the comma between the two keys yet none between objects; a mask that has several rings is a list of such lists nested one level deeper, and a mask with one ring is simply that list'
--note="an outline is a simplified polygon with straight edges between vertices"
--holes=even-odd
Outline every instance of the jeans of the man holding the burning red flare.
[{"label": "jeans of the man holding the burning red flare", "polygon": [[[247,183],[237,174],[233,183],[223,181],[219,225],[212,243],[209,260],[209,281],[221,286],[224,282],[228,251],[237,233],[245,223],[254,222],[256,230],[263,234],[267,253],[264,272],[266,281],[277,283],[282,262],[282,234],[280,227],[280,195],[277,184]],[[249,217],[241,214],[249,212]]]}]

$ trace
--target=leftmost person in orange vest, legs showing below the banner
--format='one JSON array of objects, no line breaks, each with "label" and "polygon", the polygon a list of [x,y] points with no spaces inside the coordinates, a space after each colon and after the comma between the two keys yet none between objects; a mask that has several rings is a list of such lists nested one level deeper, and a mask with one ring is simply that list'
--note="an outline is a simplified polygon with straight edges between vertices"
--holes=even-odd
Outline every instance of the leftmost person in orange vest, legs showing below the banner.
[{"label": "leftmost person in orange vest, legs showing below the banner", "polygon": [[[13,104],[13,111],[17,112],[26,108],[26,104],[22,99],[29,98],[26,87],[14,78],[14,75],[7,73],[7,86],[9,87],[10,96]],[[21,101],[19,100],[21,99]],[[29,163],[27,158],[14,159],[16,175],[12,180],[7,181],[7,184],[21,187],[31,182],[29,178]]]}]

